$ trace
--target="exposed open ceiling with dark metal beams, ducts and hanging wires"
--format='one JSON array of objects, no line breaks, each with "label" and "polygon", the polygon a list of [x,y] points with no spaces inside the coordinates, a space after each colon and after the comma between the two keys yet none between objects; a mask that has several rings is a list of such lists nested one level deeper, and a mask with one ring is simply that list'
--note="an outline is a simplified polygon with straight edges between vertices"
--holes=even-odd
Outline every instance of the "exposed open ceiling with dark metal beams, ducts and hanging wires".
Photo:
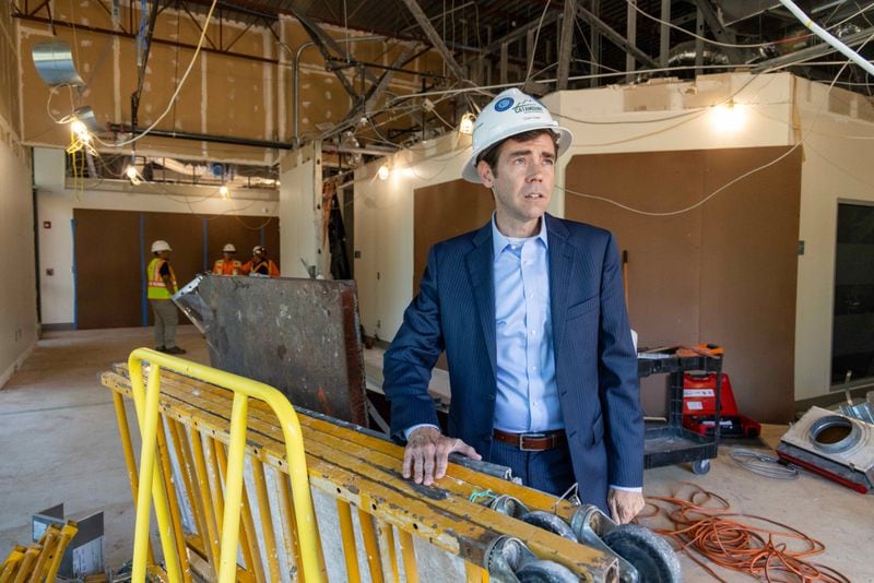
[{"label": "exposed open ceiling with dark metal beams, ducts and hanging wires", "polygon": [[[97,1],[105,8],[108,3]],[[874,43],[867,43],[874,38],[874,2],[796,3],[864,58],[874,57]],[[146,4],[154,21],[168,8],[204,14],[213,0]],[[329,147],[354,151],[345,159],[339,156],[341,164],[448,131],[462,114],[510,84],[540,95],[657,76],[692,79],[699,72],[788,70],[874,95],[871,75],[857,64],[847,66],[846,57],[777,0],[217,0],[213,12],[220,23],[271,29],[276,40],[282,17],[303,25],[321,50],[326,69],[352,96],[352,108],[341,120],[314,120]],[[355,61],[328,34],[330,26],[405,40],[408,49],[391,67]],[[569,50],[562,43],[567,35],[572,40]],[[404,70],[425,50],[440,55],[442,70],[420,74],[421,92],[395,93],[389,107],[373,108],[374,92],[382,91],[381,75]],[[342,73],[352,68],[368,83],[352,84]],[[377,129],[379,116],[397,117],[399,109],[406,111],[402,124]],[[248,145],[275,147],[267,142]]]}]

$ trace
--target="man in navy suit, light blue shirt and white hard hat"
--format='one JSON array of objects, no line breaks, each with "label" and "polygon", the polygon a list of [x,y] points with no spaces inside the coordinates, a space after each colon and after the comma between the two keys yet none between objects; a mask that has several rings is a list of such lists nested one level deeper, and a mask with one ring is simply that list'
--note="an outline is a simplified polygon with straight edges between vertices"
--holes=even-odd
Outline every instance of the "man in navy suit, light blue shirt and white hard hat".
[{"label": "man in navy suit, light blue shirt and white hard hat", "polygon": [[[546,214],[571,139],[518,90],[483,109],[462,177],[492,190],[495,213],[430,249],[383,390],[404,477],[430,485],[459,452],[556,496],[577,483],[626,523],[643,507],[643,417],[616,242]],[[442,350],[447,435],[427,394]]]}]

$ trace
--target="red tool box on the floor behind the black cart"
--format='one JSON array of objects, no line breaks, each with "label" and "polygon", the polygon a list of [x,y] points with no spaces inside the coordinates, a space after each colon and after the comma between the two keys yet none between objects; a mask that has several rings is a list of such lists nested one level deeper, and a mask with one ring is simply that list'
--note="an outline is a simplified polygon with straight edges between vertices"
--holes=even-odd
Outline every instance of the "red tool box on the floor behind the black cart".
[{"label": "red tool box on the floor behind the black cart", "polygon": [[[720,435],[722,437],[756,437],[761,426],[740,414],[731,390],[731,381],[724,372],[720,384]],[[683,427],[702,436],[713,435],[717,412],[717,373],[683,374]]]}]

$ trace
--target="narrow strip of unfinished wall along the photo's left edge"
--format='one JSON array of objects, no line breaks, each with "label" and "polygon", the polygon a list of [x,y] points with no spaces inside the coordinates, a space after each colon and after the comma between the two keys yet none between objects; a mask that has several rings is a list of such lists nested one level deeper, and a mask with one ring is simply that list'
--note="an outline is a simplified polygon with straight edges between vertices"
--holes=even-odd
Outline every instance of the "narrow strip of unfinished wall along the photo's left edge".
[{"label": "narrow strip of unfinished wall along the photo's left edge", "polygon": [[29,354],[37,328],[29,151],[21,144],[10,8],[0,8],[0,249],[11,265],[0,281],[0,388]]}]

